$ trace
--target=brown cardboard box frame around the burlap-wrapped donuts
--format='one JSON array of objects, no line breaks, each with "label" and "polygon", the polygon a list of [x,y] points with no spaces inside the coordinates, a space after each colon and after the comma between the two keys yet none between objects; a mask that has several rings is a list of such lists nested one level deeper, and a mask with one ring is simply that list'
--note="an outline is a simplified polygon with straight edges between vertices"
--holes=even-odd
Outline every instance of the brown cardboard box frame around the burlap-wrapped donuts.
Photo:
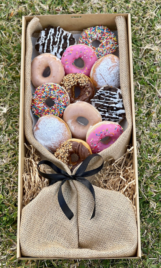
[{"label": "brown cardboard box frame around the burlap-wrapped donuts", "polygon": [[[131,144],[134,146],[133,161],[135,171],[135,206],[137,210],[137,227],[138,227],[138,247],[137,253],[130,259],[138,259],[141,257],[140,245],[140,220],[139,220],[139,195],[138,195],[138,176],[137,176],[137,148],[136,148],[136,132],[135,132],[135,108],[134,108],[134,85],[133,85],[133,62],[132,62],[132,46],[131,46],[131,22],[130,14],[80,14],[80,15],[43,15],[37,16],[40,19],[40,24],[43,28],[48,25],[60,26],[66,31],[82,31],[87,27],[96,25],[104,25],[110,30],[116,30],[115,17],[122,15],[127,21],[128,46],[129,46],[129,64],[130,64],[130,87],[131,87],[131,105],[133,117],[133,131],[131,135]],[[27,23],[34,16],[22,17],[22,47],[21,47],[21,92],[20,92],[20,127],[19,127],[19,176],[18,176],[18,234],[17,234],[17,258],[20,260],[37,260],[45,258],[23,257],[21,254],[19,243],[19,228],[22,210],[23,199],[23,178],[24,157],[25,157],[25,136],[24,136],[24,64],[25,64],[25,34]],[[52,258],[53,259],[53,258]]]}]

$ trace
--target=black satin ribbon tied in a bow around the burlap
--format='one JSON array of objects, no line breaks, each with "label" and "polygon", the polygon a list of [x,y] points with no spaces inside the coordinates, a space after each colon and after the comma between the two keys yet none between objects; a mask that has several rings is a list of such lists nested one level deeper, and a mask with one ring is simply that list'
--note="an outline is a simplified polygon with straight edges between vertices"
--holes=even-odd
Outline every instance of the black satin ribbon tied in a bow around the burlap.
[{"label": "black satin ribbon tied in a bow around the burlap", "polygon": [[[92,193],[94,202],[95,202],[95,191],[93,189],[92,184],[89,182],[88,179],[85,179],[85,177],[88,176],[92,176],[96,173],[98,173],[102,167],[103,167],[103,163],[101,164],[101,166],[98,166],[97,168],[93,169],[93,170],[89,170],[89,171],[85,171],[90,160],[94,157],[101,157],[99,154],[91,154],[89,155],[79,166],[79,168],[77,169],[76,173],[74,175],[69,175],[68,173],[66,173],[66,171],[61,170],[59,167],[57,167],[56,165],[54,165],[52,162],[48,161],[48,160],[42,160],[38,163],[37,167],[39,167],[41,164],[45,164],[50,166],[57,174],[48,174],[48,173],[43,173],[38,169],[38,172],[41,176],[43,176],[46,179],[49,179],[49,186],[54,184],[55,182],[58,181],[62,181],[60,184],[60,188],[58,191],[58,202],[59,205],[61,207],[61,209],[63,210],[64,214],[66,215],[66,217],[71,220],[72,217],[74,216],[73,212],[70,210],[70,208],[68,207],[68,205],[66,204],[66,201],[63,197],[63,193],[62,193],[62,185],[69,179],[73,179],[73,180],[77,180],[79,182],[81,182],[82,184],[84,184]],[[101,157],[102,158],[102,157]],[[103,158],[102,158],[103,161]],[[93,213],[92,213],[92,218],[95,217],[95,205],[94,205],[94,209],[93,209]]]}]

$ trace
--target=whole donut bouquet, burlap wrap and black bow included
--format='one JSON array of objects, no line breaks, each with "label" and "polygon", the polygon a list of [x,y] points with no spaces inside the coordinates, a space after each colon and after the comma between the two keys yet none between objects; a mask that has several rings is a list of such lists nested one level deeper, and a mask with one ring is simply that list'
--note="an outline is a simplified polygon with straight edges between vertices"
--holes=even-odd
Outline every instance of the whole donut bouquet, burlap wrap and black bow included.
[{"label": "whole donut bouquet, burlap wrap and black bow included", "polygon": [[119,57],[116,37],[105,26],[87,28],[79,38],[49,26],[34,42],[29,41],[39,18],[27,26],[25,136],[38,157],[36,180],[40,175],[49,186],[21,211],[23,256],[99,259],[136,253],[132,203],[118,189],[96,183],[100,173],[112,177],[108,160],[121,158],[131,137],[130,94],[121,81],[122,72],[128,75],[121,54],[127,38],[120,39],[119,27],[126,34],[127,29],[120,17]]}]

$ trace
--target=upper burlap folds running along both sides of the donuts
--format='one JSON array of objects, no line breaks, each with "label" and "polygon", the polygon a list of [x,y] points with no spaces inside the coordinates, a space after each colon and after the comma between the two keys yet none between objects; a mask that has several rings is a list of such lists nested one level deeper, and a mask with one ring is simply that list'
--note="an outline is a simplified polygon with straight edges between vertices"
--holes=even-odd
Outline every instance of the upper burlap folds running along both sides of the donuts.
[{"label": "upper burlap folds running along both sides of the donuts", "polygon": [[[103,150],[99,154],[104,160],[111,157],[114,160],[121,157],[127,150],[127,145],[130,141],[131,130],[132,130],[132,115],[131,115],[131,98],[130,98],[130,73],[129,73],[129,57],[128,57],[128,39],[127,39],[127,25],[124,16],[116,17],[116,25],[118,29],[118,43],[119,43],[119,57],[120,57],[120,83],[123,97],[123,103],[126,112],[127,129],[121,134],[118,140]],[[34,17],[27,26],[26,33],[26,58],[25,58],[25,95],[24,95],[24,130],[25,136],[36,150],[39,152],[42,159],[50,160],[61,169],[70,173],[68,167],[58,160],[52,153],[50,153],[45,147],[43,147],[34,138],[32,131],[32,118],[30,115],[31,108],[31,56],[32,56],[32,42],[31,36],[41,26],[39,18]]]}]

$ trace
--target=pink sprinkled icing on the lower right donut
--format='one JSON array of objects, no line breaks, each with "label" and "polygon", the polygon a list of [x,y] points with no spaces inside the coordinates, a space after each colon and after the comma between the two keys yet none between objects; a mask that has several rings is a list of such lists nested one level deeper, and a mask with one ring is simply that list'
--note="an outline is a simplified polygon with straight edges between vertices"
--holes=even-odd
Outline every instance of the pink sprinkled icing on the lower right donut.
[{"label": "pink sprinkled icing on the lower right donut", "polygon": [[[122,132],[123,129],[118,124],[102,124],[89,134],[86,142],[91,147],[92,153],[99,153],[111,146],[118,139],[118,137],[120,137]],[[108,141],[108,144],[104,144],[100,141],[105,137],[111,137],[111,140]]]}]

